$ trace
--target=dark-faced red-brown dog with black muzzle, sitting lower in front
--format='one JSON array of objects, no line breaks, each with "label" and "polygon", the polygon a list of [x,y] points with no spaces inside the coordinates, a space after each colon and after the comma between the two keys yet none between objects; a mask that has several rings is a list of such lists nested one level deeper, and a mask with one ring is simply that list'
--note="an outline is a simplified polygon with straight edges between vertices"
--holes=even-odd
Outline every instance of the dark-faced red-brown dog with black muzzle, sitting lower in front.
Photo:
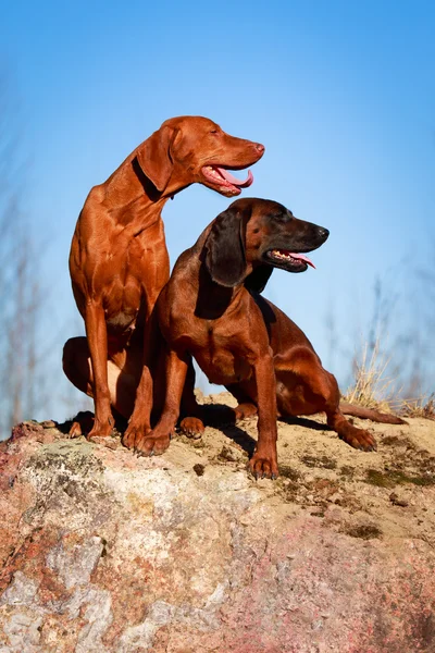
[{"label": "dark-faced red-brown dog with black muzzle, sitting lower in front", "polygon": [[[191,355],[211,382],[225,385],[238,399],[237,417],[258,411],[258,447],[250,460],[257,477],[278,473],[277,414],[324,411],[345,442],[364,451],[375,448],[372,434],[344,417],[337,382],[302,331],[258,294],[273,268],[307,270],[311,261],[302,252],[315,249],[327,236],[327,230],[263,199],[235,201],[204,230],[178,258],[157,301],[157,318],[170,348],[165,404],[156,428],[137,429],[129,446],[145,455],[161,454],[169,446]],[[149,396],[148,392],[138,397],[141,415],[150,409]],[[403,423],[395,416],[350,405],[345,409],[376,421]],[[203,429],[198,419],[185,419],[182,427]]]}]

